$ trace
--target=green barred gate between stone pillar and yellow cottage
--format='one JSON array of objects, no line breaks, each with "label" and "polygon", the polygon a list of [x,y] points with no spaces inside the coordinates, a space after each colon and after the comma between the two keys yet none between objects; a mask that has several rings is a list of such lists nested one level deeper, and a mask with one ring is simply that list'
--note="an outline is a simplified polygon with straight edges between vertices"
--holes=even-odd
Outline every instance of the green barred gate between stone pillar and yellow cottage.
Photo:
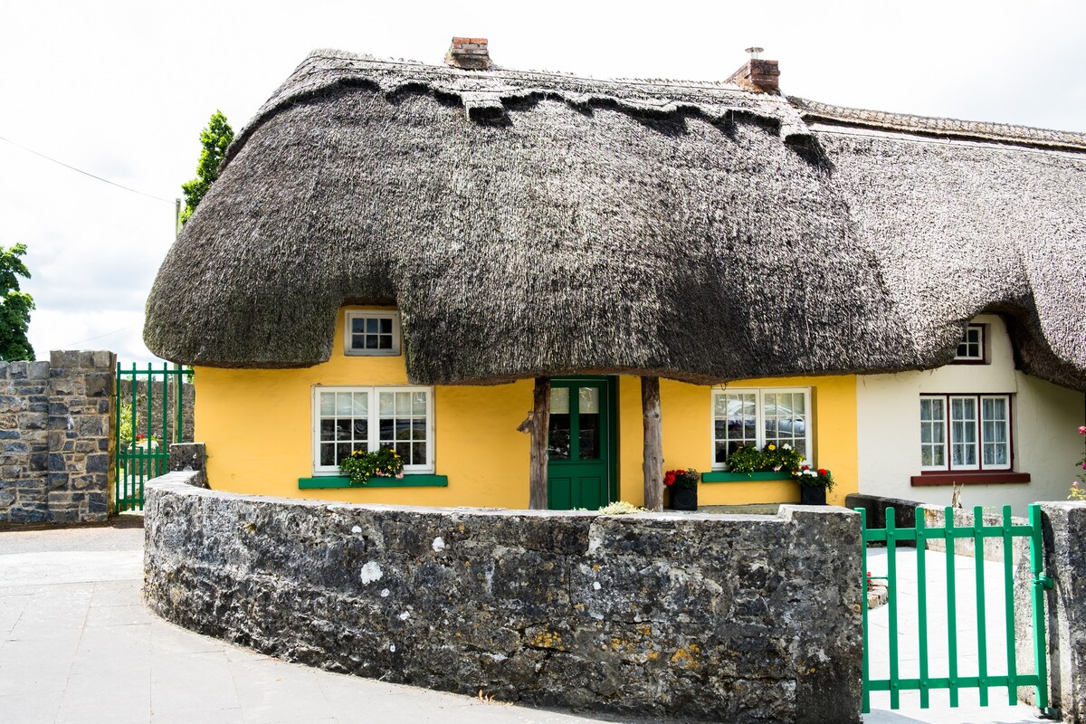
[{"label": "green barred gate between stone pillar and yellow cottage", "polygon": [[[163,363],[154,369],[117,364],[113,429],[114,510],[143,509],[143,482],[169,469],[169,443],[185,442],[184,383],[192,369]],[[125,385],[124,383],[128,384]],[[123,390],[127,388],[127,390]]]}]

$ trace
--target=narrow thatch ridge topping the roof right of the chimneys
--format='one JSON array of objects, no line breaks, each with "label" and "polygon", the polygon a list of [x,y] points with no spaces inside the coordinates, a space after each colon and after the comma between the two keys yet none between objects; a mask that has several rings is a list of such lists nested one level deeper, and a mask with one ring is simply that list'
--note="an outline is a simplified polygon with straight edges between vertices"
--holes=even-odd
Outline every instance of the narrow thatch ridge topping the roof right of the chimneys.
[{"label": "narrow thatch ridge topping the roof right of the chimneys", "polygon": [[880,130],[901,130],[935,138],[976,139],[1046,149],[1086,151],[1086,134],[1075,131],[850,109],[796,96],[788,97],[788,101],[808,123],[821,122],[830,125],[839,124]]}]

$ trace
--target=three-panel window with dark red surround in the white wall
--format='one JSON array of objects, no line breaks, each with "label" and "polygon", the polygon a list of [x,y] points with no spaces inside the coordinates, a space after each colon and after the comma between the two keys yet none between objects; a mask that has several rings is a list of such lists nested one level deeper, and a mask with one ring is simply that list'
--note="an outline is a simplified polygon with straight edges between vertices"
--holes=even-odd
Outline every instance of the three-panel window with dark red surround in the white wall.
[{"label": "three-panel window with dark red surround in the white wall", "polygon": [[922,395],[922,470],[1010,470],[1010,395]]}]

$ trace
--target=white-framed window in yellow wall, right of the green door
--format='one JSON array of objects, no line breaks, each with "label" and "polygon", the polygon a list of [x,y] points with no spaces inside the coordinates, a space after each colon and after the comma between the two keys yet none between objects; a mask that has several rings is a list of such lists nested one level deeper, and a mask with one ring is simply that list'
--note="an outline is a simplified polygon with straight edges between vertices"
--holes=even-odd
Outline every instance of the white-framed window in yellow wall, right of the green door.
[{"label": "white-framed window in yellow wall, right of the green door", "polygon": [[727,468],[741,445],[788,444],[811,457],[810,388],[727,388],[712,391],[712,467]]}]

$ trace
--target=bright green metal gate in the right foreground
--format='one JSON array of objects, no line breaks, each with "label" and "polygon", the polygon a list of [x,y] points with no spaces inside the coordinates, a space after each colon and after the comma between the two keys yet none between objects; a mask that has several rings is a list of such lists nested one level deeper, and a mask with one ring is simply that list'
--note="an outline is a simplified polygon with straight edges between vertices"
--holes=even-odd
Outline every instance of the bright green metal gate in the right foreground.
[{"label": "bright green metal gate in the right foreground", "polygon": [[[862,543],[862,570],[868,571],[868,544],[881,542],[886,544],[886,582],[888,594],[888,615],[889,615],[889,676],[887,678],[870,677],[870,631],[868,624],[868,580],[863,579],[863,712],[871,711],[871,693],[888,691],[891,709],[900,708],[901,691],[915,690],[920,693],[921,708],[931,706],[930,694],[935,689],[946,689],[949,691],[950,706],[957,707],[959,703],[959,690],[975,688],[978,690],[981,706],[988,704],[988,689],[1003,688],[1007,690],[1008,702],[1013,706],[1018,703],[1018,687],[1036,687],[1038,709],[1045,715],[1053,715],[1048,701],[1048,658],[1045,636],[1045,588],[1052,587],[1052,581],[1044,574],[1044,552],[1041,548],[1040,532],[1040,506],[1030,506],[1030,522],[1027,525],[1014,524],[1011,521],[1011,507],[1003,506],[1001,524],[985,525],[983,510],[980,506],[973,509],[973,524],[970,526],[955,525],[954,509],[946,508],[944,511],[945,524],[943,528],[925,528],[924,509],[915,509],[915,528],[897,528],[895,524],[895,513],[893,508],[886,509],[886,528],[869,530],[867,516],[863,509],[856,509],[860,513],[860,524],[863,531]],[[1015,636],[1014,636],[1014,592],[1013,592],[1013,555],[1012,543],[1015,537],[1026,537],[1030,541],[1030,571],[1032,573],[1032,596],[1031,609],[1033,612],[1033,658],[1034,672],[1023,674],[1018,672],[1015,661]],[[959,656],[965,653],[959,651],[958,647],[958,607],[963,601],[958,599],[956,594],[956,558],[955,541],[958,538],[969,538],[973,541],[974,555],[974,581],[977,595],[976,600],[976,657],[977,675],[959,675]],[[987,656],[987,631],[986,611],[983,592],[984,581],[984,539],[1001,538],[1003,551],[1003,608],[1006,613],[1006,646],[1007,646],[1007,674],[988,674]],[[924,551],[927,548],[927,541],[946,541],[946,613],[947,613],[947,653],[948,653],[948,675],[930,675],[929,656],[929,611],[925,569],[926,561]],[[915,541],[917,546],[917,615],[918,615],[918,645],[919,645],[919,676],[904,677],[900,673],[899,660],[899,633],[898,633],[898,568],[896,552],[901,541]],[[883,577],[883,576],[872,576]]]}]

